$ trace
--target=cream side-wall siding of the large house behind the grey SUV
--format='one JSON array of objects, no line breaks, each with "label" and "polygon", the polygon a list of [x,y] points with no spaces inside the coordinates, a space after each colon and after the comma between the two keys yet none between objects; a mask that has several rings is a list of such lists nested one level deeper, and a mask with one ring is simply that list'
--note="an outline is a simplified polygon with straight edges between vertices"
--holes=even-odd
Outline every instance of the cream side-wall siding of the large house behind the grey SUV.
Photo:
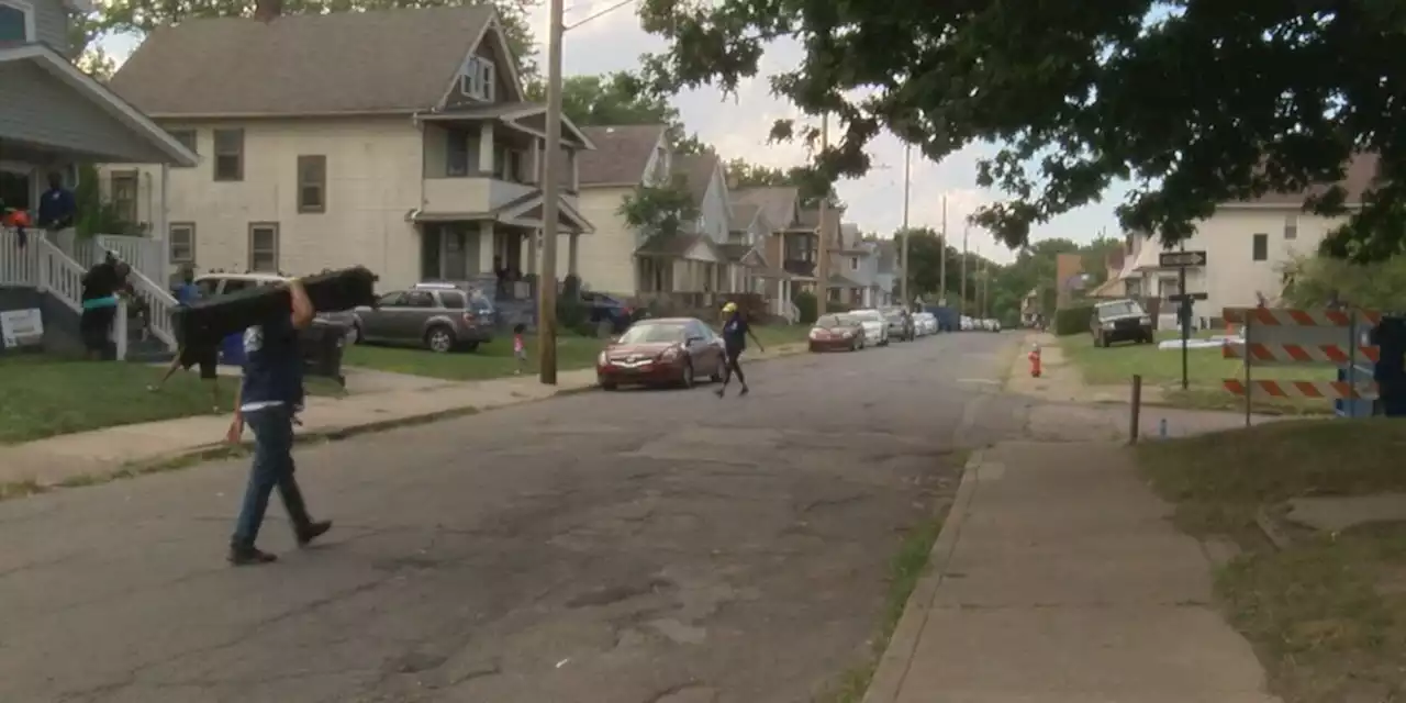
[{"label": "cream side-wall siding of the large house behind the grey SUV", "polygon": [[[200,163],[170,169],[167,222],[195,225],[197,271],[249,266],[250,222],[278,224],[278,267],[288,274],[366,266],[380,287],[419,280],[420,236],[408,221],[422,204],[423,142],[409,120],[169,122],[195,129]],[[245,131],[242,181],[214,181],[214,129]],[[299,155],[326,156],[326,212],[299,214]],[[108,174],[124,170],[104,166]],[[141,167],[138,214],[152,222],[160,169]]]}]

